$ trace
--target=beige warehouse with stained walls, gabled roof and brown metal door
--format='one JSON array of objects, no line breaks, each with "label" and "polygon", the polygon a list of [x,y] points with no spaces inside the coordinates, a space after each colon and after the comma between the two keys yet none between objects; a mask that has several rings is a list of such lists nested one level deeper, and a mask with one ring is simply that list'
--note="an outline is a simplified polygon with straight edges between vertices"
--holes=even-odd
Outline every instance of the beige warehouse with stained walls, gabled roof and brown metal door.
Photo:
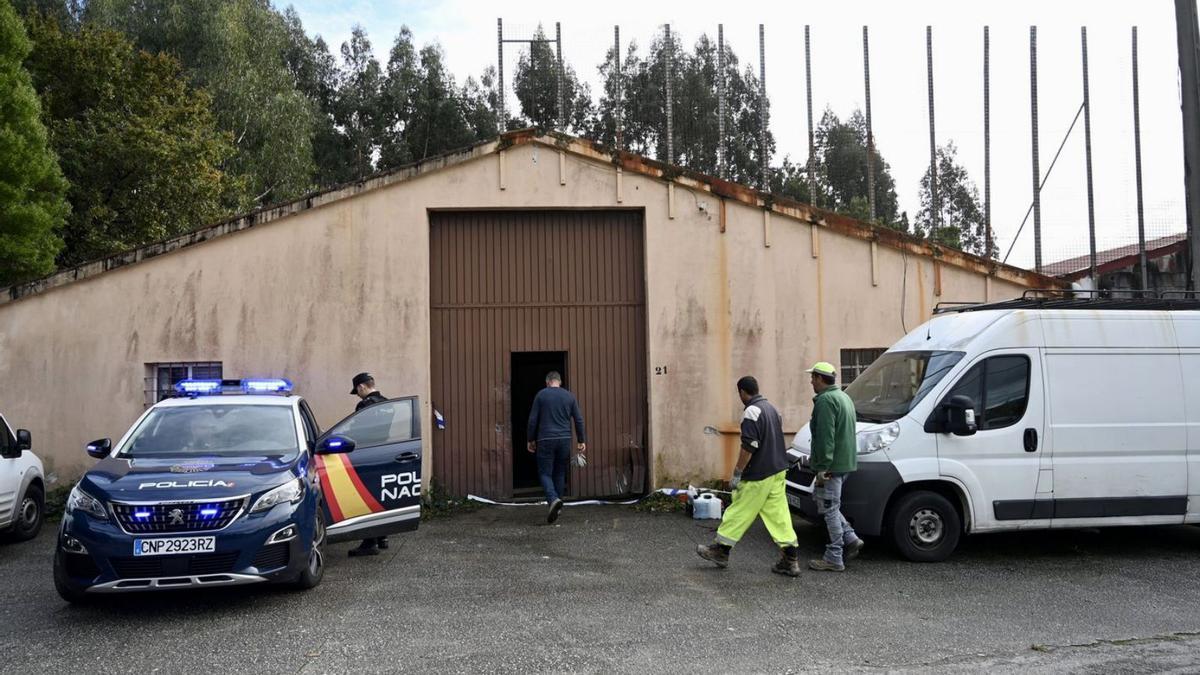
[{"label": "beige warehouse with stained walls, gabled roof and brown metal door", "polygon": [[520,131],[0,292],[0,411],[70,480],[180,377],[286,376],[329,426],[368,370],[420,396],[426,479],[509,498],[559,370],[590,432],[571,495],[640,494],[728,476],[739,376],[791,432],[811,362],[853,377],[938,301],[1055,283]]}]

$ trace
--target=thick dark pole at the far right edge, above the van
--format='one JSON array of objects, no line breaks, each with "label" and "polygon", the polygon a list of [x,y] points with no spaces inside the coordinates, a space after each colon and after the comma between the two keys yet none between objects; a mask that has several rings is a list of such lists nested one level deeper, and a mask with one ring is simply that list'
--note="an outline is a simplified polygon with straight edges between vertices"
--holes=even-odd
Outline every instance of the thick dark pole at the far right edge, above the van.
[{"label": "thick dark pole at the far right edge, above the van", "polygon": [[1200,25],[1195,0],[1175,0],[1183,112],[1183,185],[1188,211],[1188,289],[1200,289]]}]

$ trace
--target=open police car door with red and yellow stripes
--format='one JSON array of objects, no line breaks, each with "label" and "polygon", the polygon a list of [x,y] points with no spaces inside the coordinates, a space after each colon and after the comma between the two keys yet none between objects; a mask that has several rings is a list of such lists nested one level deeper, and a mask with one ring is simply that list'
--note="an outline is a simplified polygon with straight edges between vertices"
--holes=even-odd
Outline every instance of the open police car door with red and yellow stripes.
[{"label": "open police car door with red and yellow stripes", "polygon": [[330,542],[416,530],[421,520],[416,402],[416,396],[409,396],[362,408],[317,441],[316,465]]}]

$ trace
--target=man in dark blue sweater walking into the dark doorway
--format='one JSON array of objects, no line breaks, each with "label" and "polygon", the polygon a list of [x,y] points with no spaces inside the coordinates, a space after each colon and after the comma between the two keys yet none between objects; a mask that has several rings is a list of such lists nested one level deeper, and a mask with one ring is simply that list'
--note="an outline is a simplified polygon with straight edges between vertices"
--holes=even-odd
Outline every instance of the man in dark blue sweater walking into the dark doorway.
[{"label": "man in dark blue sweater walking into the dark doorway", "polygon": [[546,491],[550,515],[546,522],[558,520],[563,510],[563,492],[566,491],[566,467],[571,459],[571,423],[582,455],[587,450],[583,435],[583,413],[580,404],[563,388],[563,376],[551,371],[546,375],[546,388],[538,392],[529,411],[529,452],[538,455],[538,478]]}]

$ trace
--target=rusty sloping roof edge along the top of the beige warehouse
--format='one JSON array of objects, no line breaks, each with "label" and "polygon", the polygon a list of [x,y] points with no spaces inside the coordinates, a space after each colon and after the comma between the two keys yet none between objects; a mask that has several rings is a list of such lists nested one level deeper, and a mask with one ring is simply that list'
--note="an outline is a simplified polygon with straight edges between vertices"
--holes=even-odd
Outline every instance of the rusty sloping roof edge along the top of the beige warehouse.
[{"label": "rusty sloping roof edge along the top of the beige warehouse", "polygon": [[17,283],[10,286],[8,288],[0,288],[0,305],[19,300],[22,298],[28,298],[30,295],[36,295],[76,281],[97,276],[113,269],[136,264],[163,253],[203,244],[204,241],[209,241],[218,237],[250,229],[268,222],[274,222],[317,207],[340,202],[379,187],[403,183],[427,173],[433,173],[470,160],[492,155],[514,145],[524,145],[529,143],[538,143],[594,161],[611,163],[620,167],[623,171],[640,173],[642,175],[659,178],[662,180],[673,180],[676,184],[684,187],[702,190],[710,192],[714,196],[732,199],[748,205],[767,208],[780,215],[788,216],[802,222],[814,223],[820,227],[826,227],[848,237],[877,241],[878,244],[893,249],[899,249],[917,256],[935,258],[943,263],[968,269],[978,274],[995,275],[997,279],[1010,281],[1013,283],[1036,288],[1066,286],[1062,281],[1050,276],[1044,276],[1013,265],[1001,264],[995,261],[964,253],[962,251],[954,249],[930,244],[929,241],[917,239],[894,229],[871,226],[841,214],[818,209],[816,207],[788,199],[786,197],[779,197],[769,192],[762,192],[746,185],[670,166],[631,153],[618,154],[611,148],[606,148],[590,141],[576,138],[574,136],[564,133],[544,133],[536,129],[522,129],[506,132],[491,141],[484,141],[467,148],[422,160],[420,162],[372,174],[360,180],[310,192],[308,195],[292,202],[262,207],[250,213],[233,216],[186,234],[180,234],[154,244],[146,244],[145,246],[115,253],[70,269],[59,270],[49,276],[44,276],[35,281]]}]

